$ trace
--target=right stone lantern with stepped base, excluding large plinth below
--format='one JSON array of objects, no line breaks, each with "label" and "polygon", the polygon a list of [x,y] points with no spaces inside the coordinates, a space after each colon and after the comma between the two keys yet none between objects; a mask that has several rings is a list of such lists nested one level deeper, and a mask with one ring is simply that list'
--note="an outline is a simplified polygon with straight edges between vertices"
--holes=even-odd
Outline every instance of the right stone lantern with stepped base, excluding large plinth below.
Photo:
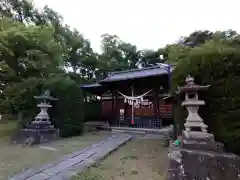
[{"label": "right stone lantern with stepped base, excluding large plinth below", "polygon": [[220,150],[221,143],[214,141],[214,135],[208,133],[208,126],[204,124],[203,119],[198,114],[199,106],[205,104],[203,100],[199,100],[199,92],[206,91],[210,85],[201,86],[194,83],[194,78],[188,75],[186,78],[186,85],[180,87],[180,93],[185,93],[185,100],[182,106],[188,110],[188,117],[184,124],[183,131],[183,148],[186,149],[206,149],[206,150]]}]

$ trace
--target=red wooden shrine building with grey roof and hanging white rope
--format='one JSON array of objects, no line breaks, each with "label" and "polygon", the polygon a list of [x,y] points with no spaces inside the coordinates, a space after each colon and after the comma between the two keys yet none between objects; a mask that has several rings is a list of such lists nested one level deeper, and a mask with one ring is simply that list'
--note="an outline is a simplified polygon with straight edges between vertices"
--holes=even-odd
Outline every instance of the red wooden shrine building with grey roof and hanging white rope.
[{"label": "red wooden shrine building with grey roof and hanging white rope", "polygon": [[172,105],[163,100],[168,82],[168,73],[157,66],[115,72],[82,88],[101,97],[101,119],[111,126],[159,129],[173,123]]}]

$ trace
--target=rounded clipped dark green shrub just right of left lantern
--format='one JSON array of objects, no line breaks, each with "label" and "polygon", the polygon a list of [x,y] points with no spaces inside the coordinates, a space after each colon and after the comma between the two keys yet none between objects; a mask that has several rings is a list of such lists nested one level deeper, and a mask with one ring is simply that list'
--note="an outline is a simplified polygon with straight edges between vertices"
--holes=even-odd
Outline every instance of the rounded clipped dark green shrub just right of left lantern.
[{"label": "rounded clipped dark green shrub just right of left lantern", "polygon": [[53,124],[59,128],[62,137],[79,135],[83,132],[84,107],[83,95],[79,85],[69,77],[60,76],[46,82],[54,97],[50,113]]}]

